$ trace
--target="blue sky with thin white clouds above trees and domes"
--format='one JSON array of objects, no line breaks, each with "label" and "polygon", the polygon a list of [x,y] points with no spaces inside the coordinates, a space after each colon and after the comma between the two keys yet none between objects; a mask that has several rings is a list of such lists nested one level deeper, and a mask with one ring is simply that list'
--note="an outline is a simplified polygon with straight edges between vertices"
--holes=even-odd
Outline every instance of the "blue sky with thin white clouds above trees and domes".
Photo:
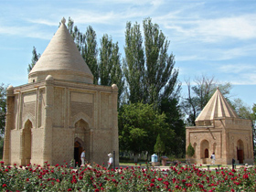
[{"label": "blue sky with thin white clouds above trees and domes", "polygon": [[126,22],[142,24],[151,17],[171,42],[180,81],[207,75],[230,82],[231,99],[251,106],[256,103],[255,10],[255,0],[0,0],[0,83],[27,83],[33,46],[42,54],[63,16],[82,32],[90,25],[99,40],[112,36],[123,57]]}]

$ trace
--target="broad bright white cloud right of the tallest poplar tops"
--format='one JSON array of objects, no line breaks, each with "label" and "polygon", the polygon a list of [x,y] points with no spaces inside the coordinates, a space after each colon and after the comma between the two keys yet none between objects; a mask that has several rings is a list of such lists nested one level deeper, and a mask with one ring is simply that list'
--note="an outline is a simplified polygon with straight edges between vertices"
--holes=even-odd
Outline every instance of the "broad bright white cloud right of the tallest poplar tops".
[{"label": "broad bright white cloud right of the tallest poplar tops", "polygon": [[[200,6],[196,4],[194,6]],[[203,12],[191,15],[191,8],[184,6],[175,12],[166,13],[157,17],[157,21],[165,28],[174,30],[172,34],[185,39],[195,39],[204,42],[219,42],[227,37],[251,39],[256,37],[256,14],[239,16],[222,16],[216,13],[217,18],[203,15]],[[200,15],[201,14],[201,15]]]}]

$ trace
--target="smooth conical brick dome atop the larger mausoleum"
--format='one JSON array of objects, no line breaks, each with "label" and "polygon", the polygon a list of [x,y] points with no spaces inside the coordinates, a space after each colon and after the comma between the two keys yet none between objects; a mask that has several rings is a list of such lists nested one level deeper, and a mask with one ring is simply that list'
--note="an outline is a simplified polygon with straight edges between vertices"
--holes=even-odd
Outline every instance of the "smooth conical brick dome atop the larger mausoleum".
[{"label": "smooth conical brick dome atop the larger mausoleum", "polygon": [[80,51],[65,26],[65,18],[61,26],[28,74],[28,82],[45,80],[48,75],[57,80],[71,80],[93,83],[91,70],[82,59]]}]

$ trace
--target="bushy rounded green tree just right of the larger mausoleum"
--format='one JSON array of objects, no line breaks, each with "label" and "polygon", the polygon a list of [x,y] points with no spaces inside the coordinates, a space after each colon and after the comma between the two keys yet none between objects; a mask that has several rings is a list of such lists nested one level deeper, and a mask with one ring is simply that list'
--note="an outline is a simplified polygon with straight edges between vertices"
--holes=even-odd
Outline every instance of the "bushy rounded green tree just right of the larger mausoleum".
[{"label": "bushy rounded green tree just right of the larger mausoleum", "polygon": [[120,149],[152,154],[158,133],[174,135],[165,119],[165,114],[155,111],[152,104],[124,104],[118,116]]}]

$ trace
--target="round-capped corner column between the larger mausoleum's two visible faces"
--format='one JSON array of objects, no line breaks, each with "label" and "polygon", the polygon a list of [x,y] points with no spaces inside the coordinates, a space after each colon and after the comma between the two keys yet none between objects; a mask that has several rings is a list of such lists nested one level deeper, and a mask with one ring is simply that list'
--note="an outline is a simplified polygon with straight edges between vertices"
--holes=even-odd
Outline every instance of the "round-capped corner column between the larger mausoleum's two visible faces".
[{"label": "round-capped corner column between the larger mausoleum's two visible faces", "polygon": [[48,75],[46,78],[46,99],[45,99],[45,117],[44,117],[44,137],[43,137],[43,163],[48,162],[52,165],[52,117],[53,117],[53,101],[54,86],[53,78]]}]

